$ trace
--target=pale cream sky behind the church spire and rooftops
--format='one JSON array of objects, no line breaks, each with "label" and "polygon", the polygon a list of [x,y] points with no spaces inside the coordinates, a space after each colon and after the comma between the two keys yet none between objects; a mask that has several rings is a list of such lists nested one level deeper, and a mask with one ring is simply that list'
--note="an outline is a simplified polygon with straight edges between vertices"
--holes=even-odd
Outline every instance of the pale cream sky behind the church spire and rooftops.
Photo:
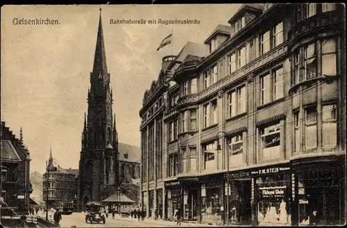
[{"label": "pale cream sky behind the church spire and rooftops", "polygon": [[[31,172],[44,172],[50,147],[62,168],[78,168],[99,8],[119,141],[140,145],[139,109],[158,79],[162,57],[187,42],[203,43],[241,4],[1,7],[1,121],[31,152]],[[14,19],[58,19],[15,25]],[[110,24],[110,19],[197,19],[200,24]],[[159,51],[174,31],[174,41]]]}]

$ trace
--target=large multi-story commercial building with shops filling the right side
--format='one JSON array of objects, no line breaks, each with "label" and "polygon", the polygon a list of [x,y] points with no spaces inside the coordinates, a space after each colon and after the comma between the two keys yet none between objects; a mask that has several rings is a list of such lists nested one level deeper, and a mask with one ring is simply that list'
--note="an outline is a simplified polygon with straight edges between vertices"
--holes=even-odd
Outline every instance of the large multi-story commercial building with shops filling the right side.
[{"label": "large multi-story commercial building with shops filling the right side", "polygon": [[[146,91],[140,111],[147,211],[162,186],[167,219],[180,208],[203,223],[344,224],[344,17],[335,3],[244,4],[205,40],[208,55],[176,61],[176,85]],[[175,106],[153,113],[163,121],[163,146],[153,149],[158,131],[144,133],[145,111],[155,95],[176,92]],[[153,154],[163,158],[160,177]]]}]

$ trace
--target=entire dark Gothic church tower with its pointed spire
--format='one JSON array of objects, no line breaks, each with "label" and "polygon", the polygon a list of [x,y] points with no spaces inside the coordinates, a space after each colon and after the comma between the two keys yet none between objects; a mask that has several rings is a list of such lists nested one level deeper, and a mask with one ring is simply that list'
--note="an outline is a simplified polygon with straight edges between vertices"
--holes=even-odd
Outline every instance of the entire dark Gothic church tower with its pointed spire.
[{"label": "entire dark Gothic church tower with its pointed spire", "polygon": [[101,9],[96,37],[93,70],[88,89],[88,111],[81,140],[78,174],[78,206],[84,209],[89,201],[101,201],[105,186],[118,184],[118,136],[115,116],[112,117],[112,89],[106,64]]}]

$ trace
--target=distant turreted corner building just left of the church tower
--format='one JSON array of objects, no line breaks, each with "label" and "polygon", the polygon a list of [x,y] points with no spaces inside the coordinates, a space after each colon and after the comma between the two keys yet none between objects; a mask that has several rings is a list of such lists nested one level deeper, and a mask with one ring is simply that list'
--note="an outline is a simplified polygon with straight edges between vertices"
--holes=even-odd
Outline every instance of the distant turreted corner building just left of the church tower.
[{"label": "distant turreted corner building just left of the church tower", "polygon": [[[53,161],[52,152],[49,160]],[[78,170],[63,169],[58,164],[56,170],[43,174],[42,195],[45,203],[48,199],[48,209],[59,207],[60,202],[71,202],[71,206],[74,206],[75,210],[77,209],[76,175],[78,175]]]}]

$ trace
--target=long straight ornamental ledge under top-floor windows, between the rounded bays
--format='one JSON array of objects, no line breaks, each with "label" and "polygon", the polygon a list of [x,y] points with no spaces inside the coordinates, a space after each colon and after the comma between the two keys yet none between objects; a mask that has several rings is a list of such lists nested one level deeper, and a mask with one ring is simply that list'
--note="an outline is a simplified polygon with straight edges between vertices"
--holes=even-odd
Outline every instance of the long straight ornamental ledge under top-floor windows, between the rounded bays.
[{"label": "long straight ornamental ledge under top-floor windows, between the rounded bays", "polygon": [[212,84],[210,87],[198,92],[197,99],[203,99],[209,95],[212,95],[214,92],[218,92],[222,88],[228,86],[230,83],[235,83],[238,80],[244,79],[244,76],[251,74],[260,67],[264,67],[266,64],[272,63],[274,60],[281,58],[287,54],[287,42],[280,44],[278,47],[271,49],[266,54],[252,60],[250,63],[244,65],[244,67],[239,68],[235,72],[232,72],[228,76],[225,76],[223,79],[217,81],[217,83]]}]

